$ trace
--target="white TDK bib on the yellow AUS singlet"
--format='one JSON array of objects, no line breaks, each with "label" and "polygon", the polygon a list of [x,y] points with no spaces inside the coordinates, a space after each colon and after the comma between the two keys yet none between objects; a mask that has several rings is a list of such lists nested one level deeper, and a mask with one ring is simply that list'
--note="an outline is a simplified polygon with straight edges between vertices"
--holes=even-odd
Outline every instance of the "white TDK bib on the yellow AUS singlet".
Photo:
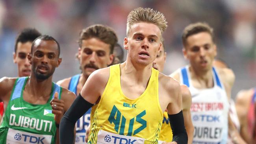
[{"label": "white TDK bib on the yellow AUS singlet", "polygon": [[144,138],[118,135],[100,130],[97,144],[144,144]]}]

